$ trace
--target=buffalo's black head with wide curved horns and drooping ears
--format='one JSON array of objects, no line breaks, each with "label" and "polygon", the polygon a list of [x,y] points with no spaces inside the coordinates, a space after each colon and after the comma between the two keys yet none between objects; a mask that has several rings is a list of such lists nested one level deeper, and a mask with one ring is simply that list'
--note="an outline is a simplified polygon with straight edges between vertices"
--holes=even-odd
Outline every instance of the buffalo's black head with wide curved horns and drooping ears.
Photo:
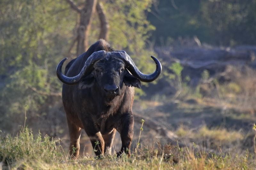
[{"label": "buffalo's black head with wide curved horns and drooping ears", "polygon": [[61,72],[61,67],[67,58],[58,64],[56,73],[64,84],[79,84],[80,89],[95,85],[104,96],[115,97],[120,95],[123,84],[140,88],[140,81],[151,82],[160,75],[161,63],[155,57],[151,56],[151,58],[156,63],[156,70],[149,75],[141,73],[125,51],[103,50],[94,52],[75,77],[67,77]]}]

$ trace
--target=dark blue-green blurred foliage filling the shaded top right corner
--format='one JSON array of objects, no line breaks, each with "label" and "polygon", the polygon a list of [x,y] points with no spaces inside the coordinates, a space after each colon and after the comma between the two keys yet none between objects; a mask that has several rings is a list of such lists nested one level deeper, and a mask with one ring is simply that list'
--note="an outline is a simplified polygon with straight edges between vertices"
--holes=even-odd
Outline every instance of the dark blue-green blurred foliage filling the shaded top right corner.
[{"label": "dark blue-green blurred foliage filling the shaded top right corner", "polygon": [[253,45],[255,8],[255,0],[156,1],[148,13],[148,20],[156,26],[152,40],[166,45],[180,36],[197,36],[215,45]]}]

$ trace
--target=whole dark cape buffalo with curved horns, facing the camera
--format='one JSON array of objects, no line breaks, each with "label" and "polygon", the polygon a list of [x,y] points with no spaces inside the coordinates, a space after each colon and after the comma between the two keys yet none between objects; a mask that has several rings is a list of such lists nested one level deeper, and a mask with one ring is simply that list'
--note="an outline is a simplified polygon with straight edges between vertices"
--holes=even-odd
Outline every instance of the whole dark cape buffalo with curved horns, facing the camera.
[{"label": "whole dark cape buffalo with curved horns, facing the camera", "polygon": [[79,139],[84,129],[91,140],[96,156],[111,153],[116,130],[121,135],[122,147],[117,156],[130,153],[133,137],[132,104],[134,88],[142,82],[152,82],[161,73],[161,63],[154,73],[146,75],[133,63],[125,51],[115,51],[100,39],[84,54],[68,63],[65,75],[57,66],[57,77],[63,82],[62,101],[70,136],[69,153],[79,155]]}]

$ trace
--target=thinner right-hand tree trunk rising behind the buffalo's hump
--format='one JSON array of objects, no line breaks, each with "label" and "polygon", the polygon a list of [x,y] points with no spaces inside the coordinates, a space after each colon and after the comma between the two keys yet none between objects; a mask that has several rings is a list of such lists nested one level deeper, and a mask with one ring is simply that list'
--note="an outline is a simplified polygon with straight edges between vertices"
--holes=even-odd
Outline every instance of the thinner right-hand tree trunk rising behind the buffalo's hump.
[{"label": "thinner right-hand tree trunk rising behind the buffalo's hump", "polygon": [[108,24],[106,14],[103,11],[103,6],[100,2],[97,3],[96,10],[98,12],[99,19],[100,19],[100,36],[99,36],[99,39],[102,38],[102,39],[108,41],[109,24]]}]

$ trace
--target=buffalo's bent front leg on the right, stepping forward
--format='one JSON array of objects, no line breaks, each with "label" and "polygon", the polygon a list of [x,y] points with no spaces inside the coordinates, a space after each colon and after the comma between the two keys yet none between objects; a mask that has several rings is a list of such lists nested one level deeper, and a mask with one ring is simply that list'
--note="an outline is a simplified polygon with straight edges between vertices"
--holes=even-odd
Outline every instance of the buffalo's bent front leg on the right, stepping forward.
[{"label": "buffalo's bent front leg on the right, stepping forward", "polygon": [[133,137],[133,115],[125,114],[121,118],[121,127],[120,127],[120,136],[122,141],[121,151],[117,152],[117,157],[120,157],[124,152],[128,154],[128,157],[131,156],[130,148],[132,144]]}]

